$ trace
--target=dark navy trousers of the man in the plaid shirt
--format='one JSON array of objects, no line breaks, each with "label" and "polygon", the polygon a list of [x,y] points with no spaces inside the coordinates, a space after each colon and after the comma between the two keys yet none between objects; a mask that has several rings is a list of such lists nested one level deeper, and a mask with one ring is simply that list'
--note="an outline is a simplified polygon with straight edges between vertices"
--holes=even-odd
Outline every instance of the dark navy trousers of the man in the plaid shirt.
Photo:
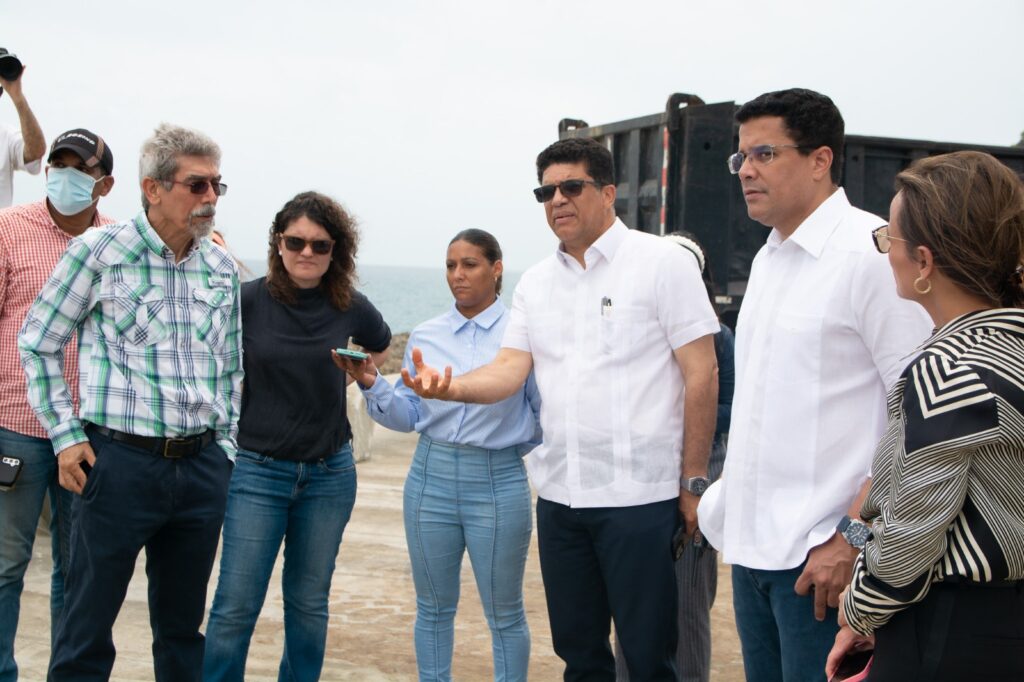
[{"label": "dark navy trousers of the man in the plaid shirt", "polygon": [[211,442],[165,459],[87,431],[96,464],[75,499],[65,610],[50,680],[106,680],[111,630],[145,548],[158,682],[198,682],[206,587],[224,520],[231,464]]}]

